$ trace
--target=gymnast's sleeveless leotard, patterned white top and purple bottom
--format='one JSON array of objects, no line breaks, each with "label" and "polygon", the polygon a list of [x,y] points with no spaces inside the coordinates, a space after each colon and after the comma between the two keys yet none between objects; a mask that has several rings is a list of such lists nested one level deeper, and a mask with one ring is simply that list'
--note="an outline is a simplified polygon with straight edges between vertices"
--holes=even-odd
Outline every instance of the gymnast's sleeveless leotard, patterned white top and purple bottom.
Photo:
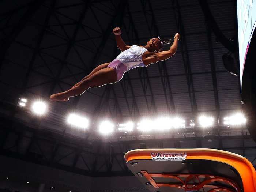
[{"label": "gymnast's sleeveless leotard, patterned white top and purple bottom", "polygon": [[147,49],[138,45],[132,45],[129,49],[121,52],[107,68],[112,67],[117,74],[117,81],[120,81],[124,73],[136,67],[146,67],[142,62],[142,55]]}]

